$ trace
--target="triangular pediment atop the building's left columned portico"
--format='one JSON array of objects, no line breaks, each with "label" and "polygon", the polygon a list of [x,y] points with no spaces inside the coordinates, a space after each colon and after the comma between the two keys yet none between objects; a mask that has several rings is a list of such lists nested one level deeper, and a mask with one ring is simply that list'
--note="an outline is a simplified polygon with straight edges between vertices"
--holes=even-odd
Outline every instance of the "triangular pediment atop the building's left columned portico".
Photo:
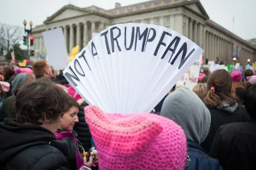
[{"label": "triangular pediment atop the building's left columned portico", "polygon": [[53,14],[51,17],[48,17],[44,23],[52,23],[60,20],[65,20],[73,17],[79,17],[84,14],[89,14],[90,11],[86,9],[81,9],[76,6],[68,5],[61,8],[58,12]]}]

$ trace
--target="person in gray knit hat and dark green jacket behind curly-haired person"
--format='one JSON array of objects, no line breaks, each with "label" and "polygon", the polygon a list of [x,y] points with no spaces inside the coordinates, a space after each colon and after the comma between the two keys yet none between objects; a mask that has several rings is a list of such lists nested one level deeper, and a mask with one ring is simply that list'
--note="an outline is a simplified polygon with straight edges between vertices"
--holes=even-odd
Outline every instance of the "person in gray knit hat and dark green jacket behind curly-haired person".
[{"label": "person in gray knit hat and dark green jacket behind curly-haired person", "polygon": [[29,75],[27,73],[20,73],[14,78],[12,82],[13,95],[6,98],[5,101],[3,102],[3,112],[5,113],[6,118],[16,118],[13,104],[15,103],[17,92],[20,89],[20,86],[23,86],[24,84],[34,80],[35,80],[34,76]]}]

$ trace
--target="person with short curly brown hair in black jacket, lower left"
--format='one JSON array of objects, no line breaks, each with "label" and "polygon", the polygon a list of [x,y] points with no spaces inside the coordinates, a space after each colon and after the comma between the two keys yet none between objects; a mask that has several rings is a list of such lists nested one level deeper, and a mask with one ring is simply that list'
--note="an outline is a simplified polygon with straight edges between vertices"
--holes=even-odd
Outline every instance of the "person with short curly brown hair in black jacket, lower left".
[{"label": "person with short curly brown hair in black jacket, lower left", "polygon": [[0,123],[1,170],[75,170],[72,138],[54,133],[69,96],[47,78],[29,82],[16,95],[16,119]]}]

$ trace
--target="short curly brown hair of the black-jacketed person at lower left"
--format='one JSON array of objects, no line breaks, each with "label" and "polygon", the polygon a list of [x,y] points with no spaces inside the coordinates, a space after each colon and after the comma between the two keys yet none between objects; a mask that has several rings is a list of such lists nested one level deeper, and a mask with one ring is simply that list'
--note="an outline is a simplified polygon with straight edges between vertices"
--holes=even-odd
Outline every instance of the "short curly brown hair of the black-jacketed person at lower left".
[{"label": "short curly brown hair of the black-jacketed person at lower left", "polygon": [[21,124],[36,124],[41,118],[54,122],[68,111],[69,95],[49,78],[29,82],[16,95],[15,112]]}]

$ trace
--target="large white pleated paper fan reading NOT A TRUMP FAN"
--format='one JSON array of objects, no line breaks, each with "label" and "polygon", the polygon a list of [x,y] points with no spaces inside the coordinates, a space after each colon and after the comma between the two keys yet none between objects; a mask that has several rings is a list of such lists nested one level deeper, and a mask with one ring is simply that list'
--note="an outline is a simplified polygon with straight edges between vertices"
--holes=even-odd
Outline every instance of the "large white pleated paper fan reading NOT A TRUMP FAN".
[{"label": "large white pleated paper fan reading NOT A TRUMP FAN", "polygon": [[203,52],[162,26],[118,24],[94,36],[64,76],[105,112],[151,112]]}]

